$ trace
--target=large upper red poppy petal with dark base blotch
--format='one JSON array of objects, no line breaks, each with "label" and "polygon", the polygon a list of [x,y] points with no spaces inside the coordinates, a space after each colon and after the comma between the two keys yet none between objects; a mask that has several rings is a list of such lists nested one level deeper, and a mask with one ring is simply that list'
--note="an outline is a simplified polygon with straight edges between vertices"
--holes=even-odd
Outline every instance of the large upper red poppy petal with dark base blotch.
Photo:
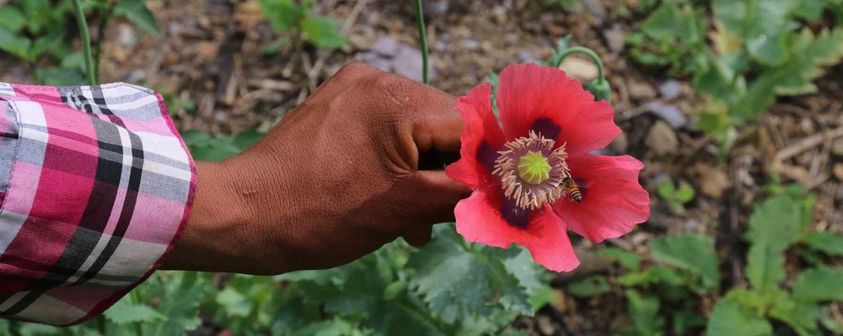
[{"label": "large upper red poppy petal with dark base blotch", "polygon": [[509,139],[534,129],[566,142],[566,152],[576,156],[606,147],[620,135],[611,105],[595,102],[582,84],[557,68],[509,66],[499,83],[497,108]]}]

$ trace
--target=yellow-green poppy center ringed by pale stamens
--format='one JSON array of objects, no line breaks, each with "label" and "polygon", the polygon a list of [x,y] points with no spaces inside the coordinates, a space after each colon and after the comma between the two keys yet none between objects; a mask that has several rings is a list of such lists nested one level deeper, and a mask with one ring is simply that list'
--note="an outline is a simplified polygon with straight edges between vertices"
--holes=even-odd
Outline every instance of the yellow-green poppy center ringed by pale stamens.
[{"label": "yellow-green poppy center ringed by pale stamens", "polygon": [[524,210],[535,210],[566,195],[566,180],[571,179],[565,159],[565,145],[535,131],[507,142],[498,152],[495,170],[507,199]]}]

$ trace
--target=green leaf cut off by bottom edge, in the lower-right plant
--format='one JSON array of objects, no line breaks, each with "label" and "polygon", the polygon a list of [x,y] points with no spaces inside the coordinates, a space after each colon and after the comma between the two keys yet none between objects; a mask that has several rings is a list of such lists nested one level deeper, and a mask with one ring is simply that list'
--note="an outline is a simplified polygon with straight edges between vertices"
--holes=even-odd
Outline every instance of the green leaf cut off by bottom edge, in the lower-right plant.
[{"label": "green leaf cut off by bottom edge, in the lower-right plant", "polygon": [[754,310],[744,307],[733,293],[717,301],[714,311],[708,320],[706,335],[741,335],[741,336],[769,336],[773,334],[773,327],[763,316]]}]

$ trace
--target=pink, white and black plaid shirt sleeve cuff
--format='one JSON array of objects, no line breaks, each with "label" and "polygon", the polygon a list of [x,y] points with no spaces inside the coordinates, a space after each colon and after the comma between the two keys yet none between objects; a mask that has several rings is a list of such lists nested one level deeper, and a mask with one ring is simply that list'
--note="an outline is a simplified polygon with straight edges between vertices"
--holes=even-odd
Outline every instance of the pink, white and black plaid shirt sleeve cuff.
[{"label": "pink, white and black plaid shirt sleeve cuff", "polygon": [[158,269],[195,186],[153,90],[0,83],[0,317],[103,312]]}]

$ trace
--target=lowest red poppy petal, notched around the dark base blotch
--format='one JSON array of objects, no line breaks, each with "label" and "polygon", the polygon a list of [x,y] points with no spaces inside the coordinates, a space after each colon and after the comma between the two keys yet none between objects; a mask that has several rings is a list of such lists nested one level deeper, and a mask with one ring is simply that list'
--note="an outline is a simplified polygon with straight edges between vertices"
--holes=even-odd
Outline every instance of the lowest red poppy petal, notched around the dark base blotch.
[{"label": "lowest red poppy petal, notched around the dark base blotch", "polygon": [[472,243],[484,243],[509,248],[511,243],[524,246],[536,263],[557,272],[576,269],[577,255],[568,239],[565,224],[554,214],[550,205],[530,214],[526,229],[513,227],[501,217],[500,200],[490,195],[491,189],[476,189],[471,196],[460,200],[454,209],[457,232]]}]

